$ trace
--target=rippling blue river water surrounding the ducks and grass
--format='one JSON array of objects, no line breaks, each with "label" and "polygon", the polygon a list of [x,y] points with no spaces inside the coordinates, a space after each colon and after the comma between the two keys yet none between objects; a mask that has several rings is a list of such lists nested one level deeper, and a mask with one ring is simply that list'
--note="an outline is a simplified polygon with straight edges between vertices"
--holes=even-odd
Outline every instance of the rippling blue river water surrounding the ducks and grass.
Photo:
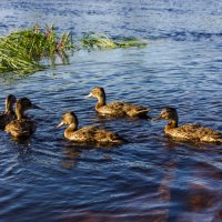
[{"label": "rippling blue river water surrounding the ducks and grass", "polygon": [[[74,36],[105,32],[149,39],[144,49],[79,51],[69,65],[27,78],[0,77],[8,93],[29,97],[46,111],[23,143],[0,132],[0,221],[221,221],[221,145],[174,142],[165,122],[100,119],[84,95],[104,87],[108,101],[178,108],[180,123],[222,131],[222,2],[204,1],[4,1],[0,33],[54,23]],[[57,130],[75,111],[80,125],[120,133],[114,148],[72,144]]]}]

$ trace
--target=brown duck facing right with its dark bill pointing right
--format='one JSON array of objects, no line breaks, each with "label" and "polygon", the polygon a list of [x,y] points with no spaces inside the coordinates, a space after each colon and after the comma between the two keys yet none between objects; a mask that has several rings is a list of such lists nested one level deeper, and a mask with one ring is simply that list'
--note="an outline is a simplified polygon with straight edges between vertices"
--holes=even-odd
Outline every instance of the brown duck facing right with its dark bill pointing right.
[{"label": "brown duck facing right with its dark bill pointing right", "polygon": [[30,99],[21,98],[16,103],[17,119],[6,125],[6,132],[14,138],[28,138],[36,131],[36,124],[24,112],[29,109],[40,109],[33,104]]}]

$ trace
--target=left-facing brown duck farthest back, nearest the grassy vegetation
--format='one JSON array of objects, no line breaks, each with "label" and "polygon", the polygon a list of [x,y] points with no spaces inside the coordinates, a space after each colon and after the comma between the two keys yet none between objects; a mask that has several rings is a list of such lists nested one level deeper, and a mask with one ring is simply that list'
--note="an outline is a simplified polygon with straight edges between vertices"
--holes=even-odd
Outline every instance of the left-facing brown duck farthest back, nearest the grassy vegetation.
[{"label": "left-facing brown duck farthest back, nearest the grassy vegetation", "polygon": [[88,98],[97,98],[95,111],[102,115],[111,117],[147,117],[150,109],[122,101],[105,103],[105,92],[101,87],[94,87]]}]

